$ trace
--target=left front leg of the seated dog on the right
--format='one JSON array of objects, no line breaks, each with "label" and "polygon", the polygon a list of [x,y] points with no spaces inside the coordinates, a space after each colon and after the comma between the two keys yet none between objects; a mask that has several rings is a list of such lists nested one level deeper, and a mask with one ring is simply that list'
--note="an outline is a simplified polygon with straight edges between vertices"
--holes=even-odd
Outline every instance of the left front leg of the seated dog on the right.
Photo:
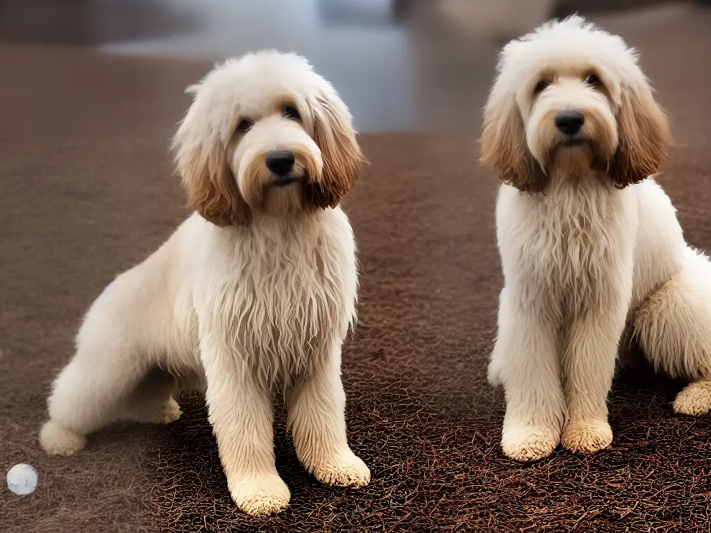
[{"label": "left front leg of the seated dog on the right", "polygon": [[506,389],[501,447],[515,461],[538,461],[560,443],[565,402],[555,321],[523,309],[511,292],[501,300],[489,381]]}]

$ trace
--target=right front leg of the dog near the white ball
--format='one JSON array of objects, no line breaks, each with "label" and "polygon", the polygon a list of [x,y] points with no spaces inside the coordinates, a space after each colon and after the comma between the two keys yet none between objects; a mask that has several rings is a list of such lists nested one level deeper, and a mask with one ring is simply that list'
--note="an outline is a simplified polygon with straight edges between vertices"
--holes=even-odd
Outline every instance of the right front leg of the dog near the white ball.
[{"label": "right front leg of the dog near the white ball", "polygon": [[341,384],[341,343],[299,380],[289,394],[289,429],[299,461],[328,485],[363,487],[370,470],[346,439],[346,394]]}]

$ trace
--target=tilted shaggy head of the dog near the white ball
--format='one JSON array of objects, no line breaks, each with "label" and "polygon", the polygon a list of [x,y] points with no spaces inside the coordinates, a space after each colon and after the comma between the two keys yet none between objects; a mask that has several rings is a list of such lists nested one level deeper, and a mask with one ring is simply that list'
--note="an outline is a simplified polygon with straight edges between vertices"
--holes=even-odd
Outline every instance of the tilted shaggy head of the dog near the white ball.
[{"label": "tilted shaggy head of the dog near the white ball", "polygon": [[230,59],[197,85],[173,140],[188,203],[213,224],[333,208],[363,156],[336,90],[304,58]]}]

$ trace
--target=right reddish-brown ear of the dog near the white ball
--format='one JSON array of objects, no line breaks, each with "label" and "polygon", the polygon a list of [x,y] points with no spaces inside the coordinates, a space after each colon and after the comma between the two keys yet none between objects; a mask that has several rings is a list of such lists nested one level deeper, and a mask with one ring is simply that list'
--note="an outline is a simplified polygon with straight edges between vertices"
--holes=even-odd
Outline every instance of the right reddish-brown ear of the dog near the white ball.
[{"label": "right reddish-brown ear of the dog near the white ball", "polygon": [[308,104],[311,138],[321,150],[324,169],[321,176],[309,176],[304,182],[304,200],[314,208],[335,208],[355,185],[365,159],[346,104],[335,94],[329,97],[323,92]]}]

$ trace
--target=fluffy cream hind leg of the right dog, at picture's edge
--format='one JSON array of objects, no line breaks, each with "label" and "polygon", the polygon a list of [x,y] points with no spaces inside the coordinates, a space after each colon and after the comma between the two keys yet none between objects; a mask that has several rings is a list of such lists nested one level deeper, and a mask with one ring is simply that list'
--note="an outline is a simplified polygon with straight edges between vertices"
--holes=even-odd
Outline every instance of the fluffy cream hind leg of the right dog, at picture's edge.
[{"label": "fluffy cream hind leg of the right dog, at picture's edge", "polygon": [[684,266],[638,309],[634,332],[655,370],[690,380],[673,407],[680,414],[711,409],[711,263],[693,249]]}]

